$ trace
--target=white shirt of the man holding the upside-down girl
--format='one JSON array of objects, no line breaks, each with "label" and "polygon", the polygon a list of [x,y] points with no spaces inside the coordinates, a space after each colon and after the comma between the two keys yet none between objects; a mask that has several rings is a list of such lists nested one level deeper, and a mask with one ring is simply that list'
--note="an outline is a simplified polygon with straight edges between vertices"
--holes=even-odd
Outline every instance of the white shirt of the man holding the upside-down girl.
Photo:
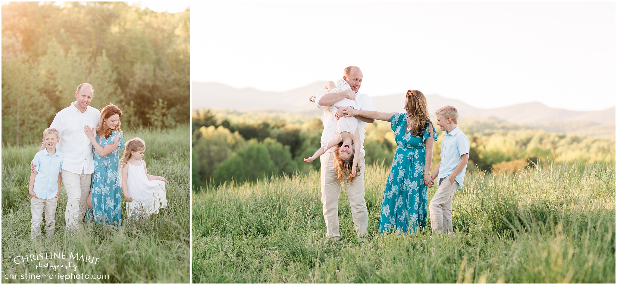
[{"label": "white shirt of the man holding the upside-down girl", "polygon": [[[332,139],[333,135],[336,134],[336,117],[334,113],[330,111],[329,106],[321,106],[319,105],[319,100],[323,95],[327,94],[323,92],[323,89],[318,91],[317,97],[315,97],[315,105],[317,105],[320,110],[323,110],[323,132],[321,133],[321,147],[325,147],[328,145],[328,142]],[[356,93],[355,94],[355,103],[356,106],[354,108],[362,111],[376,111],[375,105],[373,105],[373,100],[371,97],[368,97],[366,94]],[[364,134],[366,130],[366,122],[358,120],[358,130],[360,131],[360,153],[364,155]],[[357,146],[354,146],[357,147]],[[330,148],[327,152],[334,152],[334,148]]]}]

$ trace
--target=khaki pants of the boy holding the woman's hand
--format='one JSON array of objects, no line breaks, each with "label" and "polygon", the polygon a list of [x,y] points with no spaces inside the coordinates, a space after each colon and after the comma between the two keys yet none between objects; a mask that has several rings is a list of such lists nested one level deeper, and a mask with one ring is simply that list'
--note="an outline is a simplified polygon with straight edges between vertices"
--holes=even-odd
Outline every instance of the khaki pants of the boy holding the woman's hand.
[{"label": "khaki pants of the boy holding the woman's hand", "polygon": [[458,182],[450,184],[450,175],[439,180],[439,187],[431,199],[431,228],[435,233],[442,231],[453,233],[452,230],[452,196],[457,191]]}]

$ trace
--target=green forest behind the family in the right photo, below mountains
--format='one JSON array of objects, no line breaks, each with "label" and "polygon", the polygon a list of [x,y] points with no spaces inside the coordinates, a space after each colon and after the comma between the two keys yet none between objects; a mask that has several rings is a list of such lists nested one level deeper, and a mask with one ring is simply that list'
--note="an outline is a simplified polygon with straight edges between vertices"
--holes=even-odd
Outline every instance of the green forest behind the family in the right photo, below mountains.
[{"label": "green forest behind the family in the right photo, below mountains", "polygon": [[[193,187],[234,180],[255,181],[271,175],[319,169],[320,161],[305,163],[320,147],[323,123],[318,118],[289,113],[230,110],[193,111]],[[462,119],[470,138],[468,171],[515,173],[549,161],[611,161],[615,140],[557,134],[508,124],[499,119]],[[396,143],[388,122],[366,126],[366,164],[392,164]],[[433,149],[439,162],[442,132]]]}]

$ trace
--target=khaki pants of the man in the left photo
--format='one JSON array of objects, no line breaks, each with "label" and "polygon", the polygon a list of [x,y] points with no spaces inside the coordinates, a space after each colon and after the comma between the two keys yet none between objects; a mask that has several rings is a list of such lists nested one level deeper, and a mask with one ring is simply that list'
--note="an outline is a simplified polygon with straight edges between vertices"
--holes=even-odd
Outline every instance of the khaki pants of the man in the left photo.
[{"label": "khaki pants of the man in the left photo", "polygon": [[92,174],[76,174],[62,169],[62,183],[67,190],[67,211],[65,223],[68,230],[77,230],[86,214],[86,198],[90,193]]}]

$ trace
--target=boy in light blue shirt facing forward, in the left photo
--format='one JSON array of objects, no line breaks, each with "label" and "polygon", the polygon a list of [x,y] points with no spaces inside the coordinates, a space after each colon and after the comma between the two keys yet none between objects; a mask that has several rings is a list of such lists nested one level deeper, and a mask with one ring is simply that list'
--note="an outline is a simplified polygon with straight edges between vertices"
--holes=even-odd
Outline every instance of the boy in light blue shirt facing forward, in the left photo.
[{"label": "boy in light blue shirt facing forward, in the left photo", "polygon": [[36,153],[33,164],[35,171],[30,174],[30,209],[32,220],[31,238],[41,239],[41,222],[45,210],[45,231],[47,236],[54,235],[56,227],[56,206],[60,196],[60,181],[62,179],[62,162],[64,155],[56,150],[60,142],[59,132],[51,127],[43,131],[45,148]]}]

